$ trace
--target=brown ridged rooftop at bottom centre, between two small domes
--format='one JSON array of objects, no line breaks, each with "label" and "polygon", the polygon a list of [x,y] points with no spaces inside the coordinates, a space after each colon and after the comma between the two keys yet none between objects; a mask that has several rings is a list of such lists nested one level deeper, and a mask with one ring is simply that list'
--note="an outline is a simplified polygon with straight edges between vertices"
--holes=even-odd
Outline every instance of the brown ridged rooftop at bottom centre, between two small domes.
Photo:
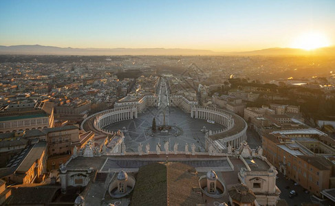
[{"label": "brown ridged rooftop at bottom centre, between two small domes", "polygon": [[197,176],[182,163],[153,163],[138,171],[131,205],[196,205],[203,203]]}]

